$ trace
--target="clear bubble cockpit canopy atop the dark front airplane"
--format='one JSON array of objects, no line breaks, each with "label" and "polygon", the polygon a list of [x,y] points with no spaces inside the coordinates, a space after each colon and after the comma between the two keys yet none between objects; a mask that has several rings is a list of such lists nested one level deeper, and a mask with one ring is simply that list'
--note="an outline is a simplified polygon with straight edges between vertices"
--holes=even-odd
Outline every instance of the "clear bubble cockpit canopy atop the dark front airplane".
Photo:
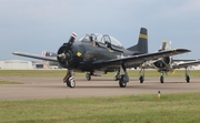
[{"label": "clear bubble cockpit canopy atop the dark front airplane", "polygon": [[123,48],[123,45],[117,39],[114,39],[111,35],[108,35],[108,34],[100,34],[100,33],[91,33],[90,35],[84,34],[78,41],[90,42],[91,41],[90,37],[92,37],[92,40],[98,42],[98,43],[107,44],[109,42],[110,44],[112,44],[114,47]]}]

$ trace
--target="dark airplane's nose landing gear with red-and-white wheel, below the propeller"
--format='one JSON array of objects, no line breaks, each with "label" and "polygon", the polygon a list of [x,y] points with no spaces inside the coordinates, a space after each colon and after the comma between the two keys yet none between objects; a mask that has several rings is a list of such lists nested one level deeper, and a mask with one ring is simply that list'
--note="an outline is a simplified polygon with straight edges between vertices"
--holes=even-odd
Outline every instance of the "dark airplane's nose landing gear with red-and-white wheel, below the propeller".
[{"label": "dark airplane's nose landing gear with red-and-white wheel, below the propeller", "polygon": [[66,76],[63,78],[63,82],[67,84],[69,88],[74,88],[76,86],[76,81],[73,78],[73,71],[68,70]]}]

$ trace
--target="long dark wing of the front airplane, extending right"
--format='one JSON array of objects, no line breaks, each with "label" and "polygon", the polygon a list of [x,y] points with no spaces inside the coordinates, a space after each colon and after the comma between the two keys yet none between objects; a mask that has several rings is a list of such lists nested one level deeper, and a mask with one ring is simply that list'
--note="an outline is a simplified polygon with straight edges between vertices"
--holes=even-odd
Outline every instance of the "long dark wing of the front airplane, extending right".
[{"label": "long dark wing of the front airplane, extending right", "polygon": [[99,60],[93,62],[93,66],[98,69],[113,69],[113,68],[119,68],[119,65],[124,64],[126,68],[133,66],[137,64],[141,64],[146,61],[149,60],[154,60],[163,57],[169,57],[169,55],[176,55],[176,54],[181,54],[190,52],[190,50],[187,49],[177,49],[177,50],[166,50],[166,51],[160,51],[156,53],[146,53],[146,54],[140,54],[140,55],[131,55],[122,59],[113,59],[113,60]]}]

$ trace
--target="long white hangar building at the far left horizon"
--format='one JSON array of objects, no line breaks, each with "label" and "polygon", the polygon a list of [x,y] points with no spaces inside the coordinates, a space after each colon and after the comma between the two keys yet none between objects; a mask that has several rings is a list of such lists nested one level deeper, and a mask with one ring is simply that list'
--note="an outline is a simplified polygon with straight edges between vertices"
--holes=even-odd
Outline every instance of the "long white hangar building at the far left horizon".
[{"label": "long white hangar building at the far left horizon", "polygon": [[33,69],[31,61],[22,61],[22,60],[2,60],[0,61],[0,69]]}]

